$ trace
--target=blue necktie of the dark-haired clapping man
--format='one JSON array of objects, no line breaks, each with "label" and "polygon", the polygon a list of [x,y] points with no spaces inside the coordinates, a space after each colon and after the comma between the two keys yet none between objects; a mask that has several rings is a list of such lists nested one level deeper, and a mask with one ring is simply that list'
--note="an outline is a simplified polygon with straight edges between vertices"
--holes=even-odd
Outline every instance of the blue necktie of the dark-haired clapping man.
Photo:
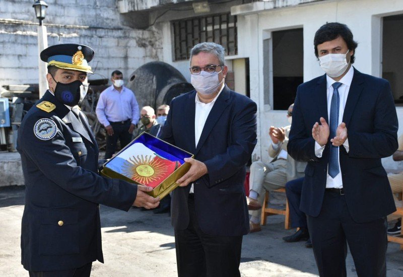
[{"label": "blue necktie of the dark-haired clapping man", "polygon": [[[331,96],[330,103],[330,120],[329,120],[329,128],[330,128],[330,138],[336,136],[336,129],[339,125],[339,107],[340,107],[340,97],[339,97],[339,87],[342,83],[336,82],[333,85],[333,95]],[[330,154],[329,154],[329,171],[328,174],[331,178],[334,178],[339,174],[339,155],[338,155],[339,147],[333,146],[330,143]]]}]

